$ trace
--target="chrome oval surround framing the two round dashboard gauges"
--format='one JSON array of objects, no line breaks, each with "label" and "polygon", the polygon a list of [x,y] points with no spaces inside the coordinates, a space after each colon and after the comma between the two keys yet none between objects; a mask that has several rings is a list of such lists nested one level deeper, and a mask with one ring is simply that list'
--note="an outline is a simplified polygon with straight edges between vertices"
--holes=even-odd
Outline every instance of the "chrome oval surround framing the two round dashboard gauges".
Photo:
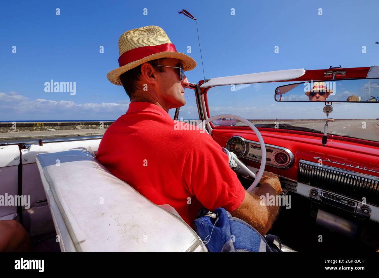
[{"label": "chrome oval surround framing the two round dashboard gauges", "polygon": [[[261,162],[261,159],[259,159],[259,158],[251,158],[251,157],[247,156],[247,154],[249,154],[250,149],[251,149],[251,145],[250,144],[257,145],[260,148],[260,143],[257,142],[257,141],[247,140],[247,139],[245,139],[245,138],[243,138],[241,136],[238,136],[238,135],[230,137],[229,140],[226,142],[226,148],[229,151],[230,151],[230,149],[229,149],[230,142],[233,139],[235,139],[235,138],[241,139],[246,144],[246,150],[245,150],[245,152],[243,153],[243,155],[240,155],[238,157],[246,158],[246,159],[249,159],[249,160],[254,161],[254,162],[259,162],[259,163]],[[295,157],[294,157],[293,153],[289,149],[283,148],[283,147],[280,147],[280,146],[270,145],[270,144],[265,144],[265,146],[266,146],[266,149],[273,149],[272,154],[269,155],[269,156],[266,156],[266,158],[270,158],[270,159],[272,158],[271,162],[266,161],[266,165],[273,166],[273,167],[276,167],[276,168],[279,168],[279,169],[288,169],[288,168],[291,168],[293,166],[293,164],[295,162]],[[285,165],[280,165],[280,164],[278,164],[278,163],[275,162],[274,156],[278,152],[283,152],[284,154],[286,154],[288,156],[288,163],[286,163]],[[267,154],[267,151],[266,151],[266,154]]]}]

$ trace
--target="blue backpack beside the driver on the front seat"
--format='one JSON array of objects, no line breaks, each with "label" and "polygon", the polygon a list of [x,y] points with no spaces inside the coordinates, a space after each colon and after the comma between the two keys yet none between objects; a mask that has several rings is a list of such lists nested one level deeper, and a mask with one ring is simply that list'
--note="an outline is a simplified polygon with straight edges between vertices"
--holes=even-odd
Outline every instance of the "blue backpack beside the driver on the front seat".
[{"label": "blue backpack beside the driver on the front seat", "polygon": [[[200,213],[202,215],[202,213]],[[245,221],[224,208],[216,208],[194,221],[196,232],[210,252],[281,252],[277,236],[263,237]],[[274,244],[279,243],[279,248]]]}]

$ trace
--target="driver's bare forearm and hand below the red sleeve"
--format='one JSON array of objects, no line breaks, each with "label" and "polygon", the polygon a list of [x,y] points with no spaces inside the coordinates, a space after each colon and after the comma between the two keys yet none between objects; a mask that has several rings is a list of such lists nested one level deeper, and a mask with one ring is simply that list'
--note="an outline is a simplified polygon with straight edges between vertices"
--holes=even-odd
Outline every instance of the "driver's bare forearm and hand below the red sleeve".
[{"label": "driver's bare forearm and hand below the red sleeve", "polygon": [[279,205],[260,204],[259,197],[262,195],[266,197],[267,193],[269,196],[282,193],[279,179],[272,172],[265,172],[260,180],[260,186],[250,194],[246,192],[241,205],[236,210],[230,211],[230,214],[246,221],[260,234],[266,235],[279,212]]}]

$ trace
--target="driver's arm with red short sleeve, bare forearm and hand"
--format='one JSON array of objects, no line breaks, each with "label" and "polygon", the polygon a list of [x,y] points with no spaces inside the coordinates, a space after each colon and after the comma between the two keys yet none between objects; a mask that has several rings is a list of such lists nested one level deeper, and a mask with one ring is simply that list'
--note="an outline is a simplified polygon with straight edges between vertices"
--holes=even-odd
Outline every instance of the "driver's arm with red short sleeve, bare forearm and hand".
[{"label": "driver's arm with red short sleeve, bare forearm and hand", "polygon": [[[243,219],[262,235],[273,224],[279,207],[261,206],[259,196],[278,195],[282,187],[278,177],[265,172],[260,187],[246,193],[236,173],[230,169],[227,155],[209,134],[200,134],[183,166],[183,185],[208,210],[222,207]],[[198,170],[195,170],[197,168]]]}]

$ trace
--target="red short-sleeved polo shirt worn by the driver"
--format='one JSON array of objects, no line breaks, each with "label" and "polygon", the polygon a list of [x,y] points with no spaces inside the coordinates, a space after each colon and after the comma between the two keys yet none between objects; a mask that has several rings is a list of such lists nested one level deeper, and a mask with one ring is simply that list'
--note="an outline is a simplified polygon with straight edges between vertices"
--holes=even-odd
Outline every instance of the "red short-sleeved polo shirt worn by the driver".
[{"label": "red short-sleeved polo shirt worn by the driver", "polygon": [[153,203],[174,207],[192,227],[200,208],[233,211],[245,197],[219,144],[152,103],[129,104],[105,131],[97,159]]}]

